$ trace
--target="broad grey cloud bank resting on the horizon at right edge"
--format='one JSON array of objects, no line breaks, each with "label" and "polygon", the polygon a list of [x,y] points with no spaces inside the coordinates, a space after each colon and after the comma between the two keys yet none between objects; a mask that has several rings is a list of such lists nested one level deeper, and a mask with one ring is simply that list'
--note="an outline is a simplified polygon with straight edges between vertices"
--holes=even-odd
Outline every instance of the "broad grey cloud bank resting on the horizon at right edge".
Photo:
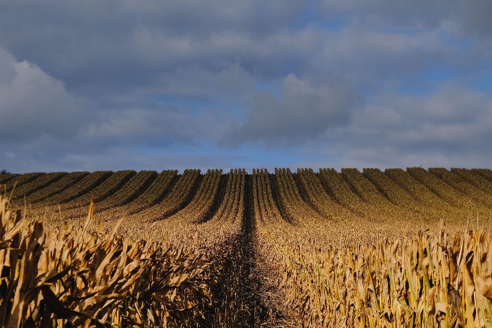
[{"label": "broad grey cloud bank resting on the horizon at right edge", "polygon": [[[492,97],[452,81],[426,96],[385,90],[322,139],[339,166],[489,167]],[[474,164],[471,164],[474,163]]]}]

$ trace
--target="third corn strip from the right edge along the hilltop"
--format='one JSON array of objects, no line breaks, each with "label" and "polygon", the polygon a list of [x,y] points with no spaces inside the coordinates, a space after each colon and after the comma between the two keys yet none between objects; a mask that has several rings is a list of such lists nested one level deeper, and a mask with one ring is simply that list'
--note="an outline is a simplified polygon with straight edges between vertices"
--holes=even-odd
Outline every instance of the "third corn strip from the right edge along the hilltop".
[{"label": "third corn strip from the right edge along the hilltop", "polygon": [[485,206],[492,208],[492,195],[486,194],[471,183],[461,178],[458,174],[450,172],[444,168],[429,168],[428,171],[436,177],[446,182],[449,186],[462,194],[469,196],[477,203],[478,207]]}]

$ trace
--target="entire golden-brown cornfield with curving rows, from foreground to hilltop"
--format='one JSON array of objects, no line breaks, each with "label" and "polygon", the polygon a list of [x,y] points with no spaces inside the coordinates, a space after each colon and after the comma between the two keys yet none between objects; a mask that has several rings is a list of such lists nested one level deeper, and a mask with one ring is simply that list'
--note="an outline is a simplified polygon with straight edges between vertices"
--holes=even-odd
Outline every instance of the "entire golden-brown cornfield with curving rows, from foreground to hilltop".
[{"label": "entire golden-brown cornfield with curving rows, from foreground to hilltop", "polygon": [[492,328],[492,171],[3,174],[8,327]]}]

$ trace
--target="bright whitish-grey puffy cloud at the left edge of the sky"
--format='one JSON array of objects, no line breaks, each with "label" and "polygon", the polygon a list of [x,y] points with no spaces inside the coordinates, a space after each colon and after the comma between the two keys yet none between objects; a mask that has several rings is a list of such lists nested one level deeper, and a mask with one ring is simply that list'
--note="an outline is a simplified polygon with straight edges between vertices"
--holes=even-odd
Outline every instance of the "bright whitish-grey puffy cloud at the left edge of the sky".
[{"label": "bright whitish-grey puffy cloud at the left edge of the sky", "polygon": [[79,128],[78,101],[61,81],[0,47],[0,136],[27,140],[42,135],[71,137]]}]

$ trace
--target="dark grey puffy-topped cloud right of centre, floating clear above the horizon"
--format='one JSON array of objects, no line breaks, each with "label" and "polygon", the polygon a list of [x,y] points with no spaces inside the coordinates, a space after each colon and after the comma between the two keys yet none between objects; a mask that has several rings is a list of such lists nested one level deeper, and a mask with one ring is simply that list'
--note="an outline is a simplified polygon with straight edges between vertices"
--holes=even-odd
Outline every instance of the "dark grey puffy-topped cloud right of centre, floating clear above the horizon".
[{"label": "dark grey puffy-topped cloud right of centre, floating clear above the horizon", "polygon": [[271,91],[258,93],[247,122],[233,125],[223,142],[298,144],[346,124],[360,98],[357,91],[339,78],[316,82],[291,73],[283,79],[279,98]]}]

